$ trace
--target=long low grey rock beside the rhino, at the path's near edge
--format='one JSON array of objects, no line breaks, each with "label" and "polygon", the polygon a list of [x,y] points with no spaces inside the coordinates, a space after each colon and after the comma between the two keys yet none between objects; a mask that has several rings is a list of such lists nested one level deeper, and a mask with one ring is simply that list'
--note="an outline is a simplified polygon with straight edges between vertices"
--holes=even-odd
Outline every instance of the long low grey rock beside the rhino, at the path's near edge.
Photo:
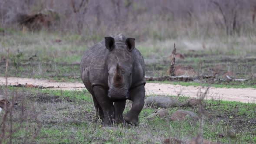
[{"label": "long low grey rock beside the rhino, at the path's near edge", "polygon": [[170,98],[167,96],[154,96],[145,99],[145,105],[156,108],[171,108],[180,106],[181,102],[177,98]]}]

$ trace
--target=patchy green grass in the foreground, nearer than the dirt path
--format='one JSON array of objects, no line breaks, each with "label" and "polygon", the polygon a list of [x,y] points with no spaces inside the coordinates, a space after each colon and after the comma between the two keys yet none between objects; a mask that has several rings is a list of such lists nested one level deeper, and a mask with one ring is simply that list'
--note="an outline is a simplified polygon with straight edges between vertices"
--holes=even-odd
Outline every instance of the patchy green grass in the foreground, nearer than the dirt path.
[{"label": "patchy green grass in the foreground, nearer than the dirt path", "polygon": [[[104,128],[99,121],[94,121],[95,108],[88,91],[55,91],[35,88],[8,87],[9,94],[23,95],[26,102],[25,114],[34,108],[39,112],[39,121],[28,119],[20,123],[14,121],[14,127],[23,125],[13,134],[13,143],[163,143],[167,137],[175,137],[183,141],[197,136],[198,121],[188,119],[183,122],[170,121],[158,116],[147,119],[148,115],[158,111],[158,108],[143,108],[138,127],[115,125],[113,128]],[[0,94],[4,89],[0,88]],[[150,97],[152,95],[147,95]],[[176,96],[170,96],[176,97]],[[66,98],[72,101],[66,101]],[[187,97],[178,97],[183,102]],[[58,100],[58,101],[56,101]],[[33,107],[36,106],[36,107]],[[211,141],[223,143],[256,143],[256,104],[236,101],[203,101],[205,108],[205,123],[203,137]],[[129,110],[131,102],[127,102],[125,112]],[[16,108],[20,107],[17,102]],[[19,118],[20,109],[16,109],[13,118]],[[169,114],[177,110],[193,111],[197,114],[197,107],[168,108]],[[3,113],[0,114],[0,116]],[[62,121],[62,118],[77,119],[80,122]],[[1,121],[1,120],[0,120]],[[39,134],[33,140],[33,134],[42,124]],[[232,133],[235,137],[230,135]],[[7,139],[4,143],[8,143]]]}]

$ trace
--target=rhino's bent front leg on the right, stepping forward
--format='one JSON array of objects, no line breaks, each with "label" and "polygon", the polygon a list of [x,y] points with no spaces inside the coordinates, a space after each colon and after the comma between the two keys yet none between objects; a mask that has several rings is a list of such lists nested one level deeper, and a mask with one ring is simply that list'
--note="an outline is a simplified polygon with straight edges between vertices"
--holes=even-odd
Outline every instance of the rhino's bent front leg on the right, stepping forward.
[{"label": "rhino's bent front leg on the right, stepping forward", "polygon": [[138,87],[131,89],[129,99],[132,101],[132,107],[131,110],[124,116],[124,118],[126,122],[136,126],[139,120],[138,116],[144,106],[144,85],[139,85]]}]

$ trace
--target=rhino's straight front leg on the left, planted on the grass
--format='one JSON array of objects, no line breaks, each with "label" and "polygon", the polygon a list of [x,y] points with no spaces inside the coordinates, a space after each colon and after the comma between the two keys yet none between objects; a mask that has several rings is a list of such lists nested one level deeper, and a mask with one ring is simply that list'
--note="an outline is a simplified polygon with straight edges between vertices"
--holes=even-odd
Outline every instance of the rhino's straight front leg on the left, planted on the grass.
[{"label": "rhino's straight front leg on the left, planted on the grass", "polygon": [[113,116],[115,113],[115,107],[113,102],[108,98],[108,91],[105,90],[102,86],[96,85],[93,87],[93,92],[95,98],[97,99],[100,107],[103,110],[104,114],[104,126],[109,126],[113,124]]}]

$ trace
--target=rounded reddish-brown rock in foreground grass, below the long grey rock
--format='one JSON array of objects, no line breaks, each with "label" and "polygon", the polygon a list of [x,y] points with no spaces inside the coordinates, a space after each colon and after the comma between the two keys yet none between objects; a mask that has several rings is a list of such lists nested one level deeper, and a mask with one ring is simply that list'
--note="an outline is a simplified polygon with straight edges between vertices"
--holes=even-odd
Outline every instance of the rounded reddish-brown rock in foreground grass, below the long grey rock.
[{"label": "rounded reddish-brown rock in foreground grass, below the long grey rock", "polygon": [[192,111],[177,110],[171,115],[171,121],[184,121],[187,118],[197,120],[198,116]]}]

